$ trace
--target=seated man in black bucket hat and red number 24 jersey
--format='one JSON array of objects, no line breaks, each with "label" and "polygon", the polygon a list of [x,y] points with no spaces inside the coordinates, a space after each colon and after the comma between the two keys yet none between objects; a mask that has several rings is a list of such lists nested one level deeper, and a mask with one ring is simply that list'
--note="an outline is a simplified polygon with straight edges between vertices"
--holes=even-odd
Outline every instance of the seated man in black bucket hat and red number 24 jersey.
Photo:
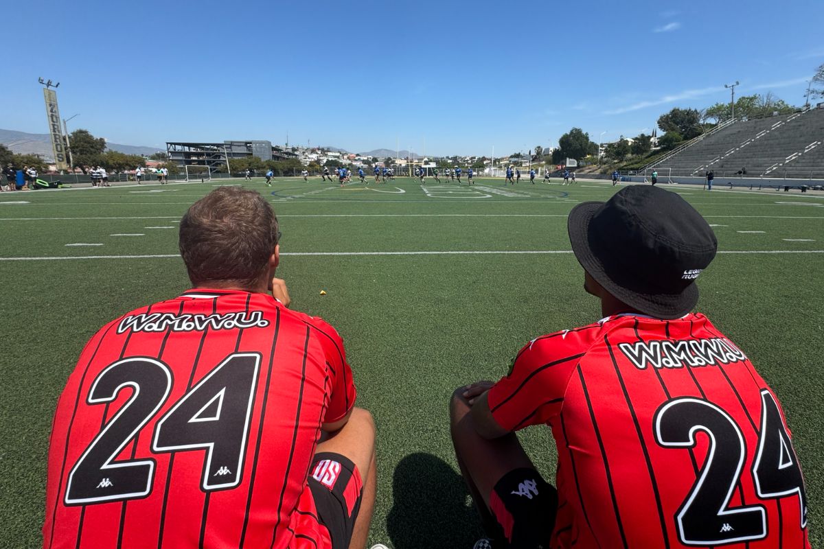
[{"label": "seated man in black bucket hat and red number 24 jersey", "polygon": [[[498,383],[452,398],[458,463],[492,537],[476,547],[810,547],[775,394],[691,312],[717,248],[704,218],[630,186],[574,207],[569,240],[604,318],[536,337]],[[557,490],[514,435],[539,424],[555,436]]]}]

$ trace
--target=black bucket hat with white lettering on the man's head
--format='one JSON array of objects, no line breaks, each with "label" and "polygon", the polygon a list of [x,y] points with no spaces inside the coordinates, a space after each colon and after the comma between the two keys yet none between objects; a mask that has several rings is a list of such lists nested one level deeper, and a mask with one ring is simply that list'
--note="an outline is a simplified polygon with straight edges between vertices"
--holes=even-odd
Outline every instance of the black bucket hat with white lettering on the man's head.
[{"label": "black bucket hat with white lettering on the man's head", "polygon": [[676,193],[625,187],[607,202],[569,212],[578,263],[616,298],[658,319],[678,319],[698,302],[695,279],[718,241],[700,213]]}]

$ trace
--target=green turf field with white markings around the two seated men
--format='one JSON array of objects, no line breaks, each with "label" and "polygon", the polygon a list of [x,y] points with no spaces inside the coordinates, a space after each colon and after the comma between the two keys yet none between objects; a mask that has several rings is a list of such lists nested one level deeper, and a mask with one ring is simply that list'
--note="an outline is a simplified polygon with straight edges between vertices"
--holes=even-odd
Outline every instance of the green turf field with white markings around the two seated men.
[{"label": "green turf field with white markings around the two seated men", "polygon": [[[452,389],[505,375],[533,337],[600,318],[566,215],[617,189],[502,183],[246,184],[279,214],[279,275],[293,308],[338,328],[358,404],[376,418],[371,542],[471,547],[479,528],[449,440]],[[83,344],[110,319],[188,287],[177,223],[217,184],[0,195],[0,547],[40,543],[50,423]],[[699,309],[779,394],[806,476],[812,546],[822,546],[824,197],[665,188],[714,225],[721,253],[700,277]],[[554,477],[550,431],[522,435]]]}]

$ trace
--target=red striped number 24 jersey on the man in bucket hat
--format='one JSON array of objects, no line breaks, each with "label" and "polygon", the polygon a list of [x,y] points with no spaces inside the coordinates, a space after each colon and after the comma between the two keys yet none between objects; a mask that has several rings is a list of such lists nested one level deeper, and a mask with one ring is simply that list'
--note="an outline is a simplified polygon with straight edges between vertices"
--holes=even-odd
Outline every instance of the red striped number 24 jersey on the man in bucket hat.
[{"label": "red striped number 24 jersey on the man in bucket hat", "polygon": [[489,407],[506,429],[552,428],[551,547],[810,547],[784,412],[702,314],[537,337]]}]

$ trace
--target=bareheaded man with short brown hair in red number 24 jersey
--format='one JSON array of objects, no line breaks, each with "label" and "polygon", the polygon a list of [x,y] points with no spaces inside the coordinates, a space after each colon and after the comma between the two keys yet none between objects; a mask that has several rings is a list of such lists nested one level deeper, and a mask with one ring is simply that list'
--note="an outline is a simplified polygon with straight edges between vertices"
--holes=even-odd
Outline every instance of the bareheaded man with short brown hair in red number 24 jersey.
[{"label": "bareheaded man with short brown hair in red number 24 jersey", "polygon": [[106,324],[60,396],[44,547],[364,547],[375,427],[343,341],[288,309],[278,219],[222,187],[180,221],[194,289]]}]

